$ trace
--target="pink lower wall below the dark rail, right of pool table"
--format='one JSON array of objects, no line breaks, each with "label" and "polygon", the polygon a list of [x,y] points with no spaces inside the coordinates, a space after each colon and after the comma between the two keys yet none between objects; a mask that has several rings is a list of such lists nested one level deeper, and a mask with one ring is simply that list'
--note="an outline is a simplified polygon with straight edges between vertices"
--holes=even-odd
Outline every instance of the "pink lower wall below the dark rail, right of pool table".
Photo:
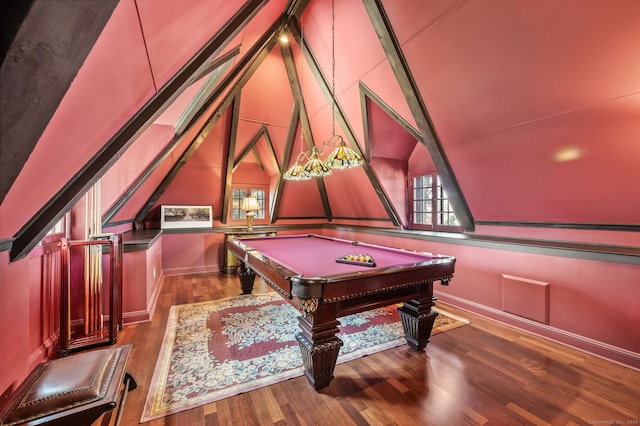
[{"label": "pink lower wall below the dark rail, right of pool table", "polygon": [[[355,231],[325,234],[455,256],[451,284],[434,287],[442,301],[640,368],[639,266]],[[502,310],[503,275],[549,283],[548,324]],[[526,295],[523,305],[531,303]]]}]

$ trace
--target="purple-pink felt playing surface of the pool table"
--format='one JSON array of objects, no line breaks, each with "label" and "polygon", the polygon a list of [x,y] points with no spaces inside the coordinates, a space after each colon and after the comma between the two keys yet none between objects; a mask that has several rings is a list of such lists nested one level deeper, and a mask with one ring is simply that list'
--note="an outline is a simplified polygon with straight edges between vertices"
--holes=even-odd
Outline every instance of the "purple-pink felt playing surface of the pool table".
[{"label": "purple-pink felt playing surface of the pool table", "polygon": [[[261,255],[307,278],[413,265],[438,258],[438,256],[428,253],[410,252],[365,243],[354,245],[348,240],[308,235],[249,238],[243,239],[242,242]],[[339,257],[359,254],[371,255],[376,266],[372,268],[336,262]]]}]

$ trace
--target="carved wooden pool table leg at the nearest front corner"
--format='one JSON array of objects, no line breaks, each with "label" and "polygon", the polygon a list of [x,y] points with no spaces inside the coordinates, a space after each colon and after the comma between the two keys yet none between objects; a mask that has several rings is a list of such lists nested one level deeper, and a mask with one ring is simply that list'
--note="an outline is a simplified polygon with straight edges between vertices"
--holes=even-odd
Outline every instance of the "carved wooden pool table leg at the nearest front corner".
[{"label": "carved wooden pool table leg at the nearest front corner", "polygon": [[[322,311],[322,306],[320,307]],[[298,324],[301,332],[296,335],[302,353],[304,374],[315,390],[329,386],[333,370],[338,360],[342,340],[336,337],[340,322],[333,318],[321,321],[317,311],[300,316]]]}]

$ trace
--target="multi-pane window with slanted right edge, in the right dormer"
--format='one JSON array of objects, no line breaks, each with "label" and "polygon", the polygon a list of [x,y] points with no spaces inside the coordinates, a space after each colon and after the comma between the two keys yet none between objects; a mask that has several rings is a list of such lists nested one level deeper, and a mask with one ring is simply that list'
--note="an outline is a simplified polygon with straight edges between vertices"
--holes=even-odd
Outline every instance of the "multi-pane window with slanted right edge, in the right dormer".
[{"label": "multi-pane window with slanted right edge, in the right dormer", "polygon": [[460,224],[440,177],[435,173],[412,179],[411,226],[416,229],[459,231]]}]

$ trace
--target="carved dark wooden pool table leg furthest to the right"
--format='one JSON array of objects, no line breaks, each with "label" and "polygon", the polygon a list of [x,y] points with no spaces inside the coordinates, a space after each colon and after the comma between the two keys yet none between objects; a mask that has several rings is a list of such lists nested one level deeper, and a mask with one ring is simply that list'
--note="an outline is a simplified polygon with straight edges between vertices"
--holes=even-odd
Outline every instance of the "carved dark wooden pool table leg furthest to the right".
[{"label": "carved dark wooden pool table leg furthest to the right", "polygon": [[430,282],[421,286],[420,296],[417,299],[404,302],[398,308],[404,338],[411,348],[418,351],[423,350],[429,343],[433,323],[438,316],[438,313],[431,309],[435,306],[435,300],[433,282]]}]

